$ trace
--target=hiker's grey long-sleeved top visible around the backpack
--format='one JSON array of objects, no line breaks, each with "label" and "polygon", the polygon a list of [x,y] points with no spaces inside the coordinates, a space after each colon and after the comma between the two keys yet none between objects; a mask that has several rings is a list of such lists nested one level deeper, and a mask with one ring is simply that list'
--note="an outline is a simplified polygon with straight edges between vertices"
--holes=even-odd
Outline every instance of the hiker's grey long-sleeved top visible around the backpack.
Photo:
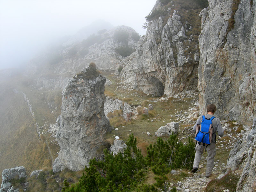
[{"label": "hiker's grey long-sleeved top visible around the backpack", "polygon": [[[214,115],[207,114],[207,115],[205,115],[205,118],[210,119],[212,116],[214,116]],[[200,117],[197,119],[196,124],[195,124],[194,127],[193,127],[194,132],[196,132],[196,125],[201,124],[202,120],[203,120],[203,117],[202,117],[202,116],[200,116]],[[216,131],[218,132],[218,135],[219,135],[220,137],[222,137],[223,134],[224,134],[224,129],[222,128],[222,126],[221,126],[221,124],[220,124],[220,119],[219,119],[218,117],[215,117],[215,118],[212,120],[212,127],[213,127],[213,132],[212,132],[212,141],[211,141],[211,142],[216,143]]]}]

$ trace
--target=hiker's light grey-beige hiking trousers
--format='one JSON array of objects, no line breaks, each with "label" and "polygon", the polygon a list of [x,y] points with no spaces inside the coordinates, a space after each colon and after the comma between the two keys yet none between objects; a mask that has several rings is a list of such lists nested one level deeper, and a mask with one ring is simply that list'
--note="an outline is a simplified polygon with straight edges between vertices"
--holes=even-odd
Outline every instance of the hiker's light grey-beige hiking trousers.
[{"label": "hiker's light grey-beige hiking trousers", "polygon": [[[196,144],[196,155],[195,155],[195,159],[194,159],[193,168],[194,167],[196,167],[196,168],[199,167],[199,163],[200,163],[200,160],[201,160],[201,156],[204,153],[204,149],[205,149],[205,146],[203,146],[202,144],[201,145],[199,145],[198,143]],[[207,156],[205,176],[210,176],[211,172],[212,172],[212,169],[214,167],[214,157],[216,155],[216,145],[215,145],[215,143],[211,143],[211,145],[209,145],[206,148],[206,151],[208,153],[208,156]]]}]

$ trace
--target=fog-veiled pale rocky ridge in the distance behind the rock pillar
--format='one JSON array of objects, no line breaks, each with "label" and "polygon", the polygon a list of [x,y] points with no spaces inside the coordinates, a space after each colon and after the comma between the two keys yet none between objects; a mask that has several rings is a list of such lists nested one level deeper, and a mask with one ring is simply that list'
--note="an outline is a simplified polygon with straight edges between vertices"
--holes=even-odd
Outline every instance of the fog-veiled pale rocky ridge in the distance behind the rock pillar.
[{"label": "fog-veiled pale rocky ridge in the distance behind the rock pillar", "polygon": [[135,52],[139,34],[128,26],[102,29],[73,44],[64,42],[30,61],[27,74],[35,76],[37,88],[63,89],[68,80],[90,62],[97,69],[115,70],[119,63]]}]

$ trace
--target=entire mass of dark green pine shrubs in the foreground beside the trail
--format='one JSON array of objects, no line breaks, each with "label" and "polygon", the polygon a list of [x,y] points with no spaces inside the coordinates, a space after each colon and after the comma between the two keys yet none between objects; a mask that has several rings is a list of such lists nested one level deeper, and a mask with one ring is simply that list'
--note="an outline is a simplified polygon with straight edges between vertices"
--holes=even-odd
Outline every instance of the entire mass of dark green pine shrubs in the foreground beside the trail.
[{"label": "entire mass of dark green pine shrubs in the foreground beside the trail", "polygon": [[[85,174],[79,182],[69,186],[65,181],[62,191],[167,191],[167,173],[173,168],[191,168],[194,159],[194,144],[189,139],[188,145],[178,142],[177,135],[170,135],[167,141],[157,139],[154,145],[148,147],[148,155],[144,158],[137,148],[137,140],[133,134],[126,142],[124,154],[116,156],[104,151],[104,161],[95,158],[85,167]],[[145,173],[151,167],[156,177],[156,183],[144,184]],[[175,191],[175,190],[173,190]]]}]

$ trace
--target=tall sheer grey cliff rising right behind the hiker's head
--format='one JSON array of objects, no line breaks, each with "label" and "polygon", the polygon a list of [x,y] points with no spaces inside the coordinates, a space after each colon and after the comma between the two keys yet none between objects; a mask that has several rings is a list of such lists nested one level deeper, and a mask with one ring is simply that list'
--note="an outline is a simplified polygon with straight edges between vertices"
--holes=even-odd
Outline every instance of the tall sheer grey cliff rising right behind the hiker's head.
[{"label": "tall sheer grey cliff rising right behind the hiker's head", "polygon": [[256,115],[256,3],[208,2],[209,7],[200,13],[200,113],[214,103],[216,116],[252,124]]}]

